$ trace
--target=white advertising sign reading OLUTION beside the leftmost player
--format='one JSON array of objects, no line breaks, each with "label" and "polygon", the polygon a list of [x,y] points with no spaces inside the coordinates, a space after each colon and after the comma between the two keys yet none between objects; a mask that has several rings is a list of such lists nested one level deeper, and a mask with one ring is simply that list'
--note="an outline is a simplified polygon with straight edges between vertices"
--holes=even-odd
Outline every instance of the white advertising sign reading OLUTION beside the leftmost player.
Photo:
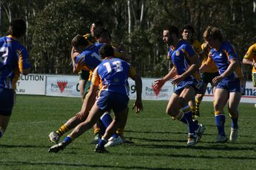
[{"label": "white advertising sign reading OLUTION beside the leftmost player", "polygon": [[46,75],[28,74],[24,76],[21,74],[16,83],[16,93],[45,95],[45,83]]}]

